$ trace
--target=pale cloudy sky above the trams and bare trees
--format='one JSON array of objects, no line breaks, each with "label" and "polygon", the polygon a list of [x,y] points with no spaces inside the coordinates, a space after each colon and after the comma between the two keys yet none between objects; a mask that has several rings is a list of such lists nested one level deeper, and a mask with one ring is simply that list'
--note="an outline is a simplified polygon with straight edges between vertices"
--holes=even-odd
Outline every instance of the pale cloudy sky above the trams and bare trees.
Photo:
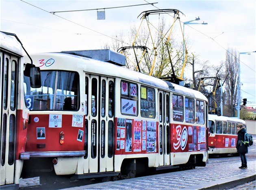
[{"label": "pale cloudy sky above the trams and bare trees", "polygon": [[[105,9],[104,20],[97,20],[97,11],[85,10],[156,3]],[[139,14],[156,9],[178,9],[180,21],[187,22],[184,36],[189,39],[189,52],[202,61],[219,65],[226,58],[226,50],[256,51],[255,0],[0,0],[0,30],[15,33],[28,53],[59,52],[65,50],[101,49],[116,35],[128,39],[131,26],[139,28]],[[157,22],[157,17],[152,20]],[[173,22],[170,15],[166,20]],[[208,23],[202,25],[202,22]],[[180,38],[175,30],[174,38]],[[125,41],[132,45],[131,41]],[[240,54],[241,99],[247,106],[256,107],[256,53]],[[184,76],[191,69],[185,68]],[[242,104],[242,103],[241,103]]]}]

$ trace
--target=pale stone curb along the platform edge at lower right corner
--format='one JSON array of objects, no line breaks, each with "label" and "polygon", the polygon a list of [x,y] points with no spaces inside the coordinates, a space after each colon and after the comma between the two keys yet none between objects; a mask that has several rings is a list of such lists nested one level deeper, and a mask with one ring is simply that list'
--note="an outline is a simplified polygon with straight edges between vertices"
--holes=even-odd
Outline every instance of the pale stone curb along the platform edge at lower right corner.
[{"label": "pale stone curb along the platform edge at lower right corner", "polygon": [[222,189],[223,190],[223,189],[233,188],[235,186],[245,184],[247,182],[254,181],[254,180],[256,180],[255,172],[249,172],[241,175],[236,175],[233,177],[228,177],[225,179],[210,181],[204,184],[189,186],[182,189],[183,190],[186,190],[186,189],[196,189],[196,190]]}]

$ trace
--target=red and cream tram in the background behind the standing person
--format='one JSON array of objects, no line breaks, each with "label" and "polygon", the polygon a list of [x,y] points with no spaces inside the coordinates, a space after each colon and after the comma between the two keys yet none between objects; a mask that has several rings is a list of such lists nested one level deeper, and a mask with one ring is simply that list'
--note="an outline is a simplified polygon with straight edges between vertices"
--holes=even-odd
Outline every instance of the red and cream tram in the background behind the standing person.
[{"label": "red and cream tram in the background behind the standing person", "polygon": [[242,119],[217,116],[214,114],[208,115],[209,119],[209,137],[208,147],[209,154],[236,154],[237,131],[236,126],[243,124],[246,127],[245,121]]}]

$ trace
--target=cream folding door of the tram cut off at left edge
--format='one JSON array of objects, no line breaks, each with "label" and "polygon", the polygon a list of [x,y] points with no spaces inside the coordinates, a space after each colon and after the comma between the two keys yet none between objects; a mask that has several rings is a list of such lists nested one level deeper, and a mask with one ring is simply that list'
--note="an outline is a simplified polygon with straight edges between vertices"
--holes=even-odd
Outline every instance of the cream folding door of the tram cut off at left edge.
[{"label": "cream folding door of the tram cut off at left edge", "polygon": [[14,183],[18,60],[0,54],[0,185]]}]

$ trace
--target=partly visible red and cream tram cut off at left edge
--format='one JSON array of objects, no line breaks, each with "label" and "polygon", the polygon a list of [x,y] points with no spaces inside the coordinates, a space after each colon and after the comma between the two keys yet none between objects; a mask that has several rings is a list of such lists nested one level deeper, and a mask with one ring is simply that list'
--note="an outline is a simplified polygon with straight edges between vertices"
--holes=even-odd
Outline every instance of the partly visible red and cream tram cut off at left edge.
[{"label": "partly visible red and cream tram cut off at left edge", "polygon": [[24,99],[22,48],[15,34],[0,32],[0,189],[19,188],[25,159],[20,154],[25,152],[29,110]]}]

